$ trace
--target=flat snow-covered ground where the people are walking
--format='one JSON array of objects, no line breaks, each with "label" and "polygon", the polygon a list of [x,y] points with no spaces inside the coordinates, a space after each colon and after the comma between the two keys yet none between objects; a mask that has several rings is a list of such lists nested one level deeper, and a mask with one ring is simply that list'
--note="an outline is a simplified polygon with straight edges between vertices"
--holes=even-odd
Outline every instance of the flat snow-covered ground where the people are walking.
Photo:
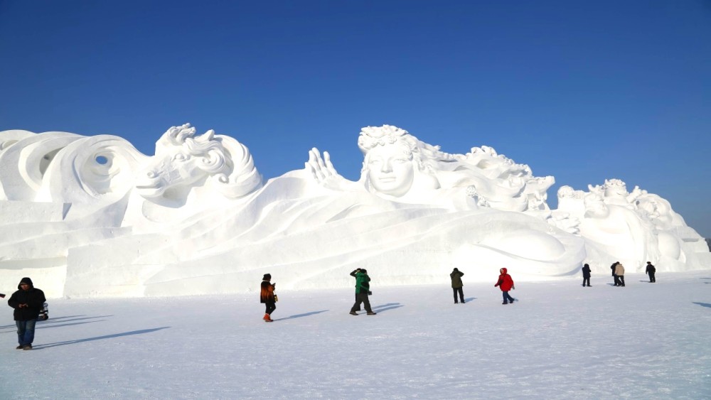
[{"label": "flat snow-covered ground where the people are walking", "polygon": [[374,316],[350,289],[277,290],[274,323],[255,293],[50,300],[32,351],[5,307],[0,398],[711,398],[711,271],[519,282],[508,306],[496,276],[455,305],[372,272]]}]

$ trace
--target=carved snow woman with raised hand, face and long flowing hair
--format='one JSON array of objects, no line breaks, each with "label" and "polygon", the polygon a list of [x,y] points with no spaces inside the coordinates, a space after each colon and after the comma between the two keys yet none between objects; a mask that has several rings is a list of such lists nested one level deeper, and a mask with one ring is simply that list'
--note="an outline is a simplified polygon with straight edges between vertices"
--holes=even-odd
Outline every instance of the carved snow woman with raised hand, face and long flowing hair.
[{"label": "carved snow woman with raised hand, face and long flowing hair", "polygon": [[534,177],[528,166],[491,147],[472,148],[466,155],[444,153],[397,126],[363,128],[358,147],[365,159],[357,183],[338,175],[328,152],[321,158],[316,148],[306,168],[327,188],[363,189],[389,200],[456,210],[548,210],[545,193],[555,183],[552,176]]}]

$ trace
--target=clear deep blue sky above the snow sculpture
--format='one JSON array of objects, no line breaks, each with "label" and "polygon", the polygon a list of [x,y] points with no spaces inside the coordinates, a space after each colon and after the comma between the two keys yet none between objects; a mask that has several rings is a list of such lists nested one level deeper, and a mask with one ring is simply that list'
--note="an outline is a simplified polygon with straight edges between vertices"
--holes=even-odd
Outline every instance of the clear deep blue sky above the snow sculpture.
[{"label": "clear deep blue sky above the snow sculpture", "polygon": [[711,2],[0,0],[0,130],[115,134],[152,155],[190,122],[265,178],[360,127],[493,146],[587,189],[620,178],[711,237]]}]

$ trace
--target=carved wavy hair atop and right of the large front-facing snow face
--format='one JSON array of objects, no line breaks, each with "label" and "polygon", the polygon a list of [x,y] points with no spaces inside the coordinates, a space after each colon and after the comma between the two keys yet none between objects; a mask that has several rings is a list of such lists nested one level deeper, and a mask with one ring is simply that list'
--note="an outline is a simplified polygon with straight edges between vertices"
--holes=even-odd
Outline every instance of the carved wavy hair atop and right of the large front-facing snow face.
[{"label": "carved wavy hair atop and right of the large front-facing snow face", "polygon": [[439,146],[432,146],[420,141],[415,136],[400,129],[397,126],[366,126],[360,129],[358,136],[358,147],[363,152],[363,171],[368,168],[368,153],[376,146],[387,146],[390,144],[400,144],[405,154],[412,159],[419,171],[434,175],[439,171],[439,162],[454,161],[455,156],[439,150]]}]

